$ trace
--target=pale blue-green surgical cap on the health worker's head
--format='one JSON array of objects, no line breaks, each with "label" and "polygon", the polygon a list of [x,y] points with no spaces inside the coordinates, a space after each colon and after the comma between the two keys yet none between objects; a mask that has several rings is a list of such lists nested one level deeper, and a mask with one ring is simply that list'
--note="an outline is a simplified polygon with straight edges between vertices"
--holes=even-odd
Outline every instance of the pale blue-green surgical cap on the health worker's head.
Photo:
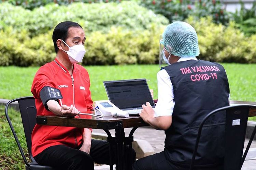
[{"label": "pale blue-green surgical cap on the health worker's head", "polygon": [[175,21],[162,34],[162,44],[166,50],[179,57],[196,57],[200,54],[197,33],[190,24]]}]

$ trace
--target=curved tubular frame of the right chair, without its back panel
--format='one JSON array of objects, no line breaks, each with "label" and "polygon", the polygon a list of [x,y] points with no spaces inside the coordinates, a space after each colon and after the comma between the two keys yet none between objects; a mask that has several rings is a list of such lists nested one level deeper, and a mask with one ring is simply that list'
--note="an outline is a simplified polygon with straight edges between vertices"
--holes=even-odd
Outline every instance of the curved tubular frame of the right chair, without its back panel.
[{"label": "curved tubular frame of the right chair, without its back panel", "polygon": [[[249,105],[249,104],[243,104],[243,105],[234,105],[234,106],[226,106],[226,107],[221,107],[221,108],[218,108],[218,109],[215,109],[214,111],[210,112],[207,116],[205,116],[203,118],[203,120],[201,121],[200,123],[200,126],[199,126],[199,129],[198,129],[198,134],[197,134],[197,139],[196,139],[196,144],[195,144],[195,148],[194,148],[194,152],[193,152],[193,156],[192,156],[192,159],[191,159],[191,163],[190,163],[190,167],[189,167],[189,170],[192,170],[193,167],[194,167],[194,162],[195,162],[195,157],[196,157],[196,153],[197,153],[197,149],[198,149],[198,145],[199,145],[199,140],[200,140],[200,136],[201,136],[201,132],[202,132],[202,128],[203,128],[203,125],[205,123],[205,121],[211,117],[212,115],[220,112],[220,111],[225,111],[225,110],[228,110],[228,109],[235,109],[235,108],[256,108],[256,105]],[[256,133],[256,126],[253,130],[253,133],[250,137],[250,140],[248,142],[248,145],[245,149],[245,152],[243,154],[243,157],[242,157],[242,161],[241,161],[241,166],[240,166],[240,169],[242,168],[243,166],[243,163],[244,163],[244,160],[245,160],[245,157],[248,153],[248,150],[252,144],[252,141],[253,141],[253,138],[255,136],[255,133]]]}]

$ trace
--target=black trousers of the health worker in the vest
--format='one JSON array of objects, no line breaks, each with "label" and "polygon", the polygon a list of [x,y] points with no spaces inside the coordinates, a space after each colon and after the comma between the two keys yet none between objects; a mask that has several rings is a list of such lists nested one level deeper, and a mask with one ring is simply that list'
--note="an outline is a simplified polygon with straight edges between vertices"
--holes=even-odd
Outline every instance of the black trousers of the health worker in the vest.
[{"label": "black trousers of the health worker in the vest", "polygon": [[[165,156],[165,151],[154,155],[146,156],[137,160],[132,165],[133,170],[189,170],[188,167],[181,167],[171,163]],[[193,170],[223,170],[223,166],[193,168]]]}]

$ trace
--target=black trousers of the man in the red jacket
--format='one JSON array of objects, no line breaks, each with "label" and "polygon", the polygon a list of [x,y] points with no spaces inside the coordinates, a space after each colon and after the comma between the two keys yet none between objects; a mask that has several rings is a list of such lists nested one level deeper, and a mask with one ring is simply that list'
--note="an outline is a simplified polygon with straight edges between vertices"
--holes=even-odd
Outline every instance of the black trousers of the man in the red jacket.
[{"label": "black trousers of the man in the red jacket", "polygon": [[[80,151],[79,148],[70,148],[56,145],[46,148],[34,157],[39,165],[51,166],[59,170],[94,170],[94,163],[110,165],[109,142],[91,139],[90,154]],[[112,163],[115,164],[116,148],[113,146]],[[135,161],[136,153],[133,150],[132,159]]]}]

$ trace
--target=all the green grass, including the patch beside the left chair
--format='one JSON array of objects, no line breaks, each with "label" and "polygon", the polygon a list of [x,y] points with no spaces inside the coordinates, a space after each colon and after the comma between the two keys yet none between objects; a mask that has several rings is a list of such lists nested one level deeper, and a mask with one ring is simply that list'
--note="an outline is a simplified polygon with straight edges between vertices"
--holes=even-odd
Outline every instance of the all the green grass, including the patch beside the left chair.
[{"label": "all the green grass, including the patch beside the left chair", "polygon": [[[229,79],[231,100],[256,101],[256,64],[223,64]],[[30,92],[34,74],[39,67],[0,67],[0,98],[14,99],[32,96]],[[156,73],[158,65],[128,66],[86,66],[90,75],[93,100],[107,99],[103,81],[146,78],[148,85],[154,89],[157,99]],[[4,116],[4,106],[0,106],[0,169],[25,169],[19,150]],[[26,150],[26,141],[19,113],[12,110],[10,117],[13,126]],[[255,120],[256,117],[250,118]],[[29,160],[29,159],[28,159]]]}]

